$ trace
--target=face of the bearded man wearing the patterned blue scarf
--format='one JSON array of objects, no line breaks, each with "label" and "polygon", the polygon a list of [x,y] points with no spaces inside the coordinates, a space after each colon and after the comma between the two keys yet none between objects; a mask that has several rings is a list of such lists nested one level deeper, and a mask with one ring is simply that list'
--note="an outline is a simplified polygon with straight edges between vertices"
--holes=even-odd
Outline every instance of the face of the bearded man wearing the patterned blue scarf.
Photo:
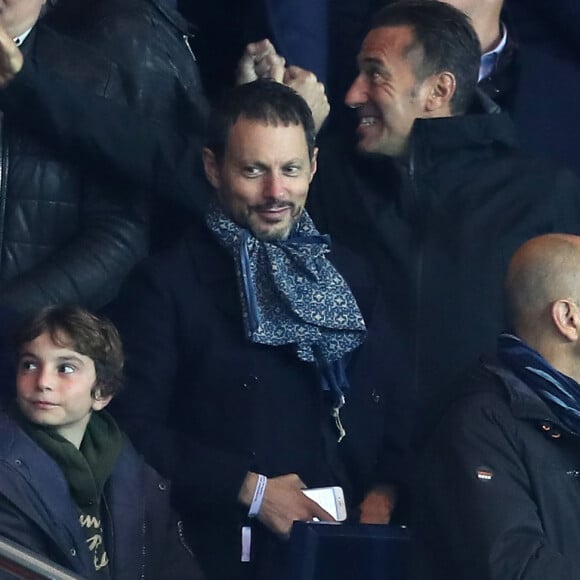
[{"label": "face of the bearded man wearing the patterned blue scarf", "polygon": [[205,172],[225,213],[262,240],[286,239],[300,219],[316,171],[301,125],[240,117],[219,162],[204,150]]}]

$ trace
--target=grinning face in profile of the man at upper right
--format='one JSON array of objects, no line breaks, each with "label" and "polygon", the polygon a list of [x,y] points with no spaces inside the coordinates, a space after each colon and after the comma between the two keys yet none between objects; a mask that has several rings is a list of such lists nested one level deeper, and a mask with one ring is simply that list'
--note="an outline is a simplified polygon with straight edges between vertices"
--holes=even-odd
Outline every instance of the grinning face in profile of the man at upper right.
[{"label": "grinning face in profile of the man at upper right", "polygon": [[375,28],[363,42],[359,75],[345,98],[358,110],[361,151],[403,155],[415,119],[428,116],[431,82],[429,77],[417,79],[422,49],[413,44],[409,26]]}]

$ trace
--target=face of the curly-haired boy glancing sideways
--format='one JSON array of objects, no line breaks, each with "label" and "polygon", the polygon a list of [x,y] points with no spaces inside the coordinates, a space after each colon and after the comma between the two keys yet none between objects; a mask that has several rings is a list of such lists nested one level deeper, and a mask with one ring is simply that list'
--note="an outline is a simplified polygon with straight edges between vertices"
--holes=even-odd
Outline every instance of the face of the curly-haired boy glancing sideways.
[{"label": "face of the curly-haired boy glancing sideways", "polygon": [[[66,334],[60,334],[58,341],[70,342]],[[93,396],[96,379],[92,359],[55,344],[45,332],[20,349],[18,407],[32,423],[54,427],[79,447],[91,412],[105,408],[111,400]]]}]

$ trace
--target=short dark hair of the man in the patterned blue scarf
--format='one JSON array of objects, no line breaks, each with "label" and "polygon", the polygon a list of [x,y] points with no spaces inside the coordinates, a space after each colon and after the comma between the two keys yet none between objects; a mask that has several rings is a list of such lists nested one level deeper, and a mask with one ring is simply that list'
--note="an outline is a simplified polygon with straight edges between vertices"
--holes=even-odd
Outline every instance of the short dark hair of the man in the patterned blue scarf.
[{"label": "short dark hair of the man in the patterned blue scarf", "polygon": [[316,141],[312,112],[306,101],[290,87],[270,79],[259,79],[225,93],[212,112],[206,143],[218,161],[223,159],[230,129],[240,117],[274,126],[302,126],[312,159]]}]

